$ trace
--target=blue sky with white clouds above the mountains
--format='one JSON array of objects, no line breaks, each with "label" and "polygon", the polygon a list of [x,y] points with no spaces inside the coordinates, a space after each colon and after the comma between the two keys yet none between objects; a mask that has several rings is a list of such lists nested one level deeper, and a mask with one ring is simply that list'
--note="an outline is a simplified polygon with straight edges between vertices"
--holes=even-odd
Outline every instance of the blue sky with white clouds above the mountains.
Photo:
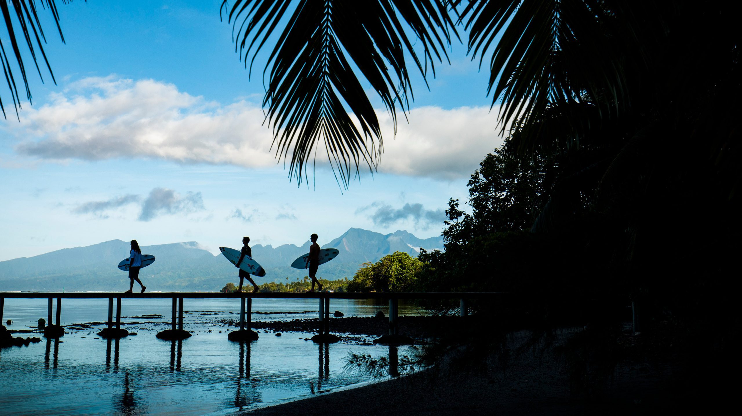
[{"label": "blue sky with white clouds above the mountains", "polygon": [[269,151],[263,65],[249,81],[220,4],[60,4],[67,44],[45,20],[57,85],[30,73],[33,105],[20,122],[6,107],[0,121],[0,261],[114,239],[216,252],[243,235],[299,245],[350,227],[440,234],[449,197],[466,199],[469,175],[502,142],[488,74],[465,48],[450,51],[430,91],[414,80],[395,137],[373,99],[386,132],[378,174],[341,190],[319,153],[315,181],[298,187]]}]

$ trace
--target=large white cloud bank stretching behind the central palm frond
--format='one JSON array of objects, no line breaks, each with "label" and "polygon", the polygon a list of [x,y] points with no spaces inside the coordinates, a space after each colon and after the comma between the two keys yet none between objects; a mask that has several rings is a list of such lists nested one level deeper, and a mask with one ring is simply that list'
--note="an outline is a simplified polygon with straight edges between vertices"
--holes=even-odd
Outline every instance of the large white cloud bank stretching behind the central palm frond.
[{"label": "large white cloud bank stretching behind the central palm frond", "polygon": [[[437,179],[467,177],[502,143],[496,110],[415,108],[400,119],[396,138],[388,113],[378,111],[384,133],[379,171]],[[152,79],[90,77],[24,111],[4,128],[21,141],[16,152],[39,159],[164,159],[263,168],[275,165],[272,130],[249,101],[206,102],[175,85]],[[318,156],[324,148],[318,148]],[[318,165],[326,165],[318,157]]]}]

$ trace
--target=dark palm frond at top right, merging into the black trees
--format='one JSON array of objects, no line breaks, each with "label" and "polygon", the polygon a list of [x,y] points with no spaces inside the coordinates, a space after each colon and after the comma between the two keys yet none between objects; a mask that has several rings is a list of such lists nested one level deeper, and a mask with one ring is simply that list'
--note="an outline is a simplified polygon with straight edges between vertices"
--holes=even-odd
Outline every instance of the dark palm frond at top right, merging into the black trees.
[{"label": "dark palm frond at top right, merging into the black trees", "polygon": [[[624,8],[631,7],[620,0],[473,0],[464,7],[472,59],[479,56],[481,66],[491,52],[487,92],[493,105],[503,103],[502,132],[508,120],[525,130],[531,114],[554,102],[607,96],[612,111],[626,108],[626,62],[617,57],[646,50],[635,34],[640,19]],[[626,36],[617,41],[611,29],[619,26]]]}]

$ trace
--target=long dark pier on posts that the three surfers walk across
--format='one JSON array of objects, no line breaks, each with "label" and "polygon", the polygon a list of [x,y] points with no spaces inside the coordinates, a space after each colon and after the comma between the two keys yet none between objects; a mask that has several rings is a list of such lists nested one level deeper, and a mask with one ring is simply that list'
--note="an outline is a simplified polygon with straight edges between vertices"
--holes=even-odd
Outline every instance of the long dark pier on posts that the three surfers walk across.
[{"label": "long dark pier on posts that the three surfers walk across", "polygon": [[[125,294],[113,292],[0,292],[0,323],[6,299],[47,299],[47,322],[51,324],[53,300],[56,299],[56,325],[62,317],[62,299],[108,299],[108,328],[121,327],[121,304],[125,299],[172,299],[171,329],[183,330],[184,299],[239,299],[240,331],[251,328],[253,299],[317,299],[319,302],[319,335],[329,335],[329,306],[331,299],[377,299],[389,301],[389,335],[398,335],[398,305],[400,299],[456,300],[460,302],[460,314],[467,316],[469,300],[496,300],[505,292],[149,292]],[[114,299],[116,300],[116,320],[114,321]]]}]

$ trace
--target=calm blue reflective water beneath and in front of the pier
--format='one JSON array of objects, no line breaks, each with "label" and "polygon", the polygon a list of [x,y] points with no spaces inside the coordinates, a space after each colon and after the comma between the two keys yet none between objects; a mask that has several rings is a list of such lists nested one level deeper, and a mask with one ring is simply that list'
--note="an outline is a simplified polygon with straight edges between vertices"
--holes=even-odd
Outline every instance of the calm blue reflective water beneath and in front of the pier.
[{"label": "calm blue reflective water beneath and in front of the pier", "polygon": [[[317,311],[317,304],[317,300],[257,299],[253,310]],[[59,341],[42,337],[41,343],[0,349],[0,414],[229,414],[367,382],[370,376],[344,370],[349,351],[375,357],[390,354],[387,346],[359,345],[364,337],[318,345],[304,340],[312,334],[303,332],[276,337],[261,331],[257,341],[234,343],[227,340],[234,328],[220,320],[237,320],[239,300],[185,299],[183,308],[191,311],[183,326],[194,333],[188,340],[155,337],[170,327],[164,322],[170,321],[171,300],[125,299],[122,316],[128,318],[122,322],[134,323],[124,327],[137,336],[105,340],[96,335],[103,326],[96,326],[65,334]],[[331,300],[330,308],[346,316],[388,312],[386,304],[372,300]],[[399,312],[423,313],[402,304]],[[107,314],[108,300],[62,300],[63,326],[102,322]],[[142,314],[162,318],[131,318]],[[46,300],[5,300],[3,320],[13,320],[7,326],[10,330],[36,326],[46,315]],[[253,314],[252,319],[316,316]]]}]

